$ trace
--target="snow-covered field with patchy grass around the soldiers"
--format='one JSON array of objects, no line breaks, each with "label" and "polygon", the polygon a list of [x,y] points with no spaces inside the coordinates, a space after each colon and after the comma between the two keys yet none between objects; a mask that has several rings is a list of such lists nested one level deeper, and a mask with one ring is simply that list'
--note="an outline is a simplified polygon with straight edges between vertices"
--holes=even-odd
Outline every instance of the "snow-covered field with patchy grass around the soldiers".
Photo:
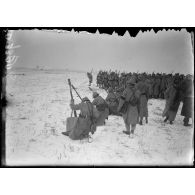
[{"label": "snow-covered field with patchy grass around the soldiers", "polygon": [[[161,117],[165,101],[149,100],[149,124],[137,125],[130,139],[121,117],[109,116],[93,142],[61,134],[70,116],[67,79],[82,97],[92,99],[85,73],[12,71],[7,76],[7,165],[190,165],[193,127],[183,126],[179,108],[174,125]],[[106,97],[104,90],[93,87]],[[74,92],[73,92],[74,93]],[[80,100],[74,93],[76,103]]]}]

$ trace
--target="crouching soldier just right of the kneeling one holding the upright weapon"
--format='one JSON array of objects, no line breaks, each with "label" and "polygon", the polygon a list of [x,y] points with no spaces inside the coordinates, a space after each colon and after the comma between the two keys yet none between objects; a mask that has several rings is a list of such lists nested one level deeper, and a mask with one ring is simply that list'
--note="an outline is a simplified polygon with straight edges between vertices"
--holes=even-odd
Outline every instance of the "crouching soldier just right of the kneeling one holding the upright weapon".
[{"label": "crouching soldier just right of the kneeling one holding the upright weapon", "polygon": [[97,93],[93,92],[92,104],[96,106],[99,111],[99,117],[97,118],[97,126],[101,126],[105,124],[105,120],[108,119],[109,109],[106,101]]}]

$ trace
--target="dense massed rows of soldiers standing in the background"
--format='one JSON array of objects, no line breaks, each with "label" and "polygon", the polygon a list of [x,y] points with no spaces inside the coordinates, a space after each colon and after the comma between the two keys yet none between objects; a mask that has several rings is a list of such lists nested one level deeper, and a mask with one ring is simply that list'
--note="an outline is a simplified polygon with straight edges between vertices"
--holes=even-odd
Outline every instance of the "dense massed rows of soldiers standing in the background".
[{"label": "dense massed rows of soldiers standing in the background", "polygon": [[175,79],[180,82],[185,78],[184,74],[165,74],[165,73],[125,73],[117,71],[99,71],[97,74],[97,86],[99,88],[108,90],[111,87],[115,92],[123,91],[126,88],[126,83],[130,78],[134,78],[137,83],[142,77],[144,82],[149,87],[149,98],[164,99],[164,92],[173,83]]}]

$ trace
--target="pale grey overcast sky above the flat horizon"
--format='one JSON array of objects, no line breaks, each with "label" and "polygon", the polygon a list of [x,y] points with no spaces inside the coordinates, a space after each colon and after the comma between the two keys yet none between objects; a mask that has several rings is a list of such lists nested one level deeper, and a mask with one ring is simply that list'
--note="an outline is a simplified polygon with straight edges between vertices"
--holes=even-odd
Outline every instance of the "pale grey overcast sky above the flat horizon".
[{"label": "pale grey overcast sky above the flat horizon", "polygon": [[137,37],[86,32],[14,31],[15,67],[191,73],[191,37],[186,30],[139,33]]}]

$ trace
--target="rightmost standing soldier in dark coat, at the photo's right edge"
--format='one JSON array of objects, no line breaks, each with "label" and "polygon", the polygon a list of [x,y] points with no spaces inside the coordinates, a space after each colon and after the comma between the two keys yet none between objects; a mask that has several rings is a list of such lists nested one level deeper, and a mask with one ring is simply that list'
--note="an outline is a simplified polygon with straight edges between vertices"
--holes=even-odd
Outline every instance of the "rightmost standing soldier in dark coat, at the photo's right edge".
[{"label": "rightmost standing soldier in dark coat, at the photo's right edge", "polygon": [[184,81],[181,83],[181,91],[182,91],[182,101],[183,107],[181,110],[181,115],[184,116],[184,126],[190,126],[189,119],[193,117],[193,99],[194,99],[194,91],[193,91],[193,78],[192,75],[187,75]]}]

